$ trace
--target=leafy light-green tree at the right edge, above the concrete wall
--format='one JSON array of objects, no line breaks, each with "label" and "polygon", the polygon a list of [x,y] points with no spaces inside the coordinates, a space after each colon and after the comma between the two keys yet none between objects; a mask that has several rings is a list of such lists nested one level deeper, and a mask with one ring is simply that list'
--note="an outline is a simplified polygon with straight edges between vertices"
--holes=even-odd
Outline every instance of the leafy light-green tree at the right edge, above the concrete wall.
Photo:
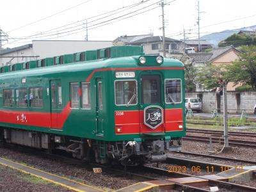
[{"label": "leafy light-green tree at the right edge, above the concrete wall", "polygon": [[225,78],[235,84],[249,84],[256,90],[256,46],[241,47],[239,60],[225,67]]}]

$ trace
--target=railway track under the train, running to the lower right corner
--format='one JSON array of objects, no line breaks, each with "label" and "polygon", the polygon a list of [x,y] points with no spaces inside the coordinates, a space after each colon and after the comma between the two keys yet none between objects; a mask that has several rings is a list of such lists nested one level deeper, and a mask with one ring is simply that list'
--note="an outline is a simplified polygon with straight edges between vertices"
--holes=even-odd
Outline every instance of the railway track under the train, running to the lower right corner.
[{"label": "railway track under the train, running to the lower right corner", "polygon": [[[15,148],[14,150],[17,150],[17,148]],[[29,150],[29,151],[28,151]],[[40,156],[47,156],[49,158],[53,158],[53,159],[60,159],[61,161],[65,161],[68,164],[77,164],[79,166],[86,166],[86,164],[84,164],[83,161],[77,160],[77,159],[73,159],[70,157],[63,157],[60,155],[56,155],[56,154],[47,154],[47,153],[42,153],[42,152],[38,152],[36,150],[33,150],[33,154],[36,155],[40,155]],[[19,149],[20,152],[20,149]],[[31,149],[26,149],[25,152],[31,152]],[[125,177],[133,177],[138,179],[138,181],[147,181],[147,180],[158,180],[159,182],[170,182],[170,178],[184,178],[184,177],[196,177],[197,179],[204,179],[204,177],[199,177],[199,176],[194,176],[194,175],[189,175],[186,173],[170,173],[168,172],[168,170],[164,170],[161,168],[152,168],[150,166],[140,166],[139,168],[132,168],[129,169],[129,171],[125,171],[122,170],[122,168],[109,168],[109,166],[103,166],[103,165],[99,165],[99,164],[92,164],[90,163],[90,166],[97,166],[97,167],[101,167],[102,170],[105,172],[106,170],[111,171],[111,172],[115,172],[118,174],[122,174],[125,175]],[[140,173],[138,173],[140,172]],[[155,175],[153,176],[148,176],[145,173],[154,173]],[[173,182],[173,181],[172,181]],[[192,186],[191,186],[192,185]],[[238,185],[238,184],[233,184],[230,182],[225,182],[225,181],[220,181],[220,180],[214,180],[214,179],[207,179],[207,184],[205,184],[205,186],[219,186],[220,188],[224,188],[224,189],[229,189],[230,191],[255,191],[256,188],[251,188],[248,186],[243,186],[243,185]],[[198,188],[196,187],[196,183],[195,186],[193,186],[193,184],[180,184],[179,182],[175,182],[174,186],[172,189],[175,189],[177,191],[209,191],[207,189],[204,188]],[[118,190],[117,190],[118,191]]]}]

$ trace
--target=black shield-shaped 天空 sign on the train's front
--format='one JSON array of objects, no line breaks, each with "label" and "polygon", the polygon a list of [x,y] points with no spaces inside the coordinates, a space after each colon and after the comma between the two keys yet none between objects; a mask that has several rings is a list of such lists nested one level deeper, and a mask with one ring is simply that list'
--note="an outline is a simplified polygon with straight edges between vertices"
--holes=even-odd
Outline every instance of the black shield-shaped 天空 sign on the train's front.
[{"label": "black shield-shaped \u5929\u7a7a sign on the train's front", "polygon": [[163,124],[163,108],[159,106],[148,106],[144,109],[144,124],[151,129],[156,129]]}]

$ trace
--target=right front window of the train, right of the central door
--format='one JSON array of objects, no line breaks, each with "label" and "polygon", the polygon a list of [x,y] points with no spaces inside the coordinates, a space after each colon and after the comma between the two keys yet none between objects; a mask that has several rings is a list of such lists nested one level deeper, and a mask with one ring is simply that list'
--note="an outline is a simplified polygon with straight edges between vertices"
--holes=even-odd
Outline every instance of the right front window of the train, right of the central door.
[{"label": "right front window of the train, right of the central door", "polygon": [[181,80],[180,79],[166,79],[165,86],[165,102],[175,103],[181,102]]}]

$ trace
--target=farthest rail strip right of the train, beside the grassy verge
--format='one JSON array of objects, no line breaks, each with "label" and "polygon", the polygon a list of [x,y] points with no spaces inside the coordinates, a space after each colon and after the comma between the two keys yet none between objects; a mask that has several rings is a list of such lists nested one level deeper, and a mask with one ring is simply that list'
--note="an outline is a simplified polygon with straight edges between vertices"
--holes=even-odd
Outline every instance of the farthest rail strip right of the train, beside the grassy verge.
[{"label": "farthest rail strip right of the train, beside the grassy verge", "polygon": [[[214,135],[218,135],[218,136],[223,135],[223,131],[214,131],[214,130],[209,130],[209,129],[187,129],[187,132],[203,133],[203,134],[214,134]],[[230,135],[230,136],[253,137],[253,136],[256,136],[256,132],[228,131],[228,135]]]}]

